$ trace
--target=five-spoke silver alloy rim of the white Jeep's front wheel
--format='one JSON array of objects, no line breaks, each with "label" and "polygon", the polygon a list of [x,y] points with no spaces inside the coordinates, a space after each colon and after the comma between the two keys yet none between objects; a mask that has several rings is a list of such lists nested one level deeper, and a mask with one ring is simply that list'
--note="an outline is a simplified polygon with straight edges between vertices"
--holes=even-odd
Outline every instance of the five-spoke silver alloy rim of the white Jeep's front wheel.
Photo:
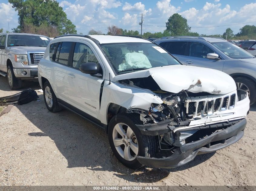
[{"label": "five-spoke silver alloy rim of the white Jeep's front wheel", "polygon": [[112,133],[115,148],[122,158],[132,161],[138,155],[137,138],[132,129],[125,123],[115,125]]}]

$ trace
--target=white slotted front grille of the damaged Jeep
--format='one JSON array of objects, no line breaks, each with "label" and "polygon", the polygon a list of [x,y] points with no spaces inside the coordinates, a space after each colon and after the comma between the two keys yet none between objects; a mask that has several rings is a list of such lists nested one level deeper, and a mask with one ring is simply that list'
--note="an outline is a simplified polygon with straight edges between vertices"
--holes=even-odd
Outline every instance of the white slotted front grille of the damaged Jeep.
[{"label": "white slotted front grille of the damaged Jeep", "polygon": [[235,106],[236,94],[211,97],[188,97],[186,113],[190,117],[210,116],[216,112],[231,110]]}]

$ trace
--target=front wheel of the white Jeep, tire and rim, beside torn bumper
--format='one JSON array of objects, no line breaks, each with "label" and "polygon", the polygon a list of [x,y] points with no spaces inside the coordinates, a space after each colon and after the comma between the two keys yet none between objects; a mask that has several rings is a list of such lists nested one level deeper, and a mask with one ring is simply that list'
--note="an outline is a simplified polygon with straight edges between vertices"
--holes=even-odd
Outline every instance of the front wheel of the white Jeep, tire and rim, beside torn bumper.
[{"label": "front wheel of the white Jeep, tire and rim, beside torn bumper", "polygon": [[118,114],[108,126],[108,140],[113,153],[122,164],[132,169],[143,166],[136,156],[154,157],[157,151],[156,138],[142,135],[135,124],[142,124],[138,116]]}]

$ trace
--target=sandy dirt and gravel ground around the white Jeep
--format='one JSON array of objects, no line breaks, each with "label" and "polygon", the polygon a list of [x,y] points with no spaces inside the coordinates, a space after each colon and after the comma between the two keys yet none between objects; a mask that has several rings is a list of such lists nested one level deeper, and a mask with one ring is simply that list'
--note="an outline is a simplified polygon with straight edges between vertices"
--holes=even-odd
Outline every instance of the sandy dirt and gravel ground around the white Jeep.
[{"label": "sandy dirt and gravel ground around the white Jeep", "polygon": [[[40,89],[33,82],[27,88]],[[0,76],[0,97],[17,92]],[[50,113],[38,96],[0,117],[0,185],[256,185],[256,105],[235,144],[182,167],[131,170],[102,129],[68,110]]]}]

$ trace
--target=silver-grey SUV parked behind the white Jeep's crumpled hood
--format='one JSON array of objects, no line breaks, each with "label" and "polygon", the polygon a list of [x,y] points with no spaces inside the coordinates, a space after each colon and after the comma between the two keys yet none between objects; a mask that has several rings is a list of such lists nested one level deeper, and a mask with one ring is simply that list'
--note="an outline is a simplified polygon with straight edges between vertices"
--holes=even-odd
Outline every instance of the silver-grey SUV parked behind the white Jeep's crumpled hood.
[{"label": "silver-grey SUV parked behind the white Jeep's crumpled hood", "polygon": [[248,92],[251,105],[256,101],[256,58],[221,38],[165,37],[155,43],[182,64],[213,68],[234,78],[237,89]]}]

